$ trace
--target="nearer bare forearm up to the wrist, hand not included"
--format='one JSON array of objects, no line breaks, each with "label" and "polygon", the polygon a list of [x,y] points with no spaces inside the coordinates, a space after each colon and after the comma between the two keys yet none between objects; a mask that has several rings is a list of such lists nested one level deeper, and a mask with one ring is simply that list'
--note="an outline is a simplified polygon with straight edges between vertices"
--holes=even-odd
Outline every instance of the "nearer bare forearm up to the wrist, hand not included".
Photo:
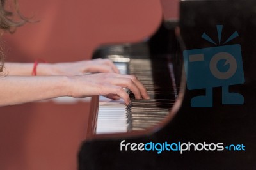
[{"label": "nearer bare forearm up to the wrist, hand not included", "polygon": [[0,106],[22,104],[68,95],[65,76],[0,77]]}]

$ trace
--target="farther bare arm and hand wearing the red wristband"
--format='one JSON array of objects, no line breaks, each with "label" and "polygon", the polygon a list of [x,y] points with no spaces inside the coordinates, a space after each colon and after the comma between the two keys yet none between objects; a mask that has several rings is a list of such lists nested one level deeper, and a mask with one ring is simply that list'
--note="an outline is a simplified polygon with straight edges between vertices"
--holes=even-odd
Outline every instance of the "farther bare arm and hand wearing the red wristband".
[{"label": "farther bare arm and hand wearing the red wristband", "polygon": [[[34,63],[4,63],[8,75],[31,75]],[[88,72],[119,73],[109,59],[93,59],[67,63],[39,63],[37,75],[81,75]]]}]

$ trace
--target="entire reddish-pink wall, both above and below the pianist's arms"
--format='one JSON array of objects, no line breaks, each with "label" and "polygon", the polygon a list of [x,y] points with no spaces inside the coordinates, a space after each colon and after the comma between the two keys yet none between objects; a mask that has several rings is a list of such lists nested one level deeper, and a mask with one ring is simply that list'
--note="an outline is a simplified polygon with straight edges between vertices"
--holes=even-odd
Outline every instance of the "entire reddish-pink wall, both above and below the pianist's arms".
[{"label": "entire reddish-pink wall, both above and below the pianist's arms", "polygon": [[[177,18],[178,0],[162,3],[164,16]],[[151,36],[162,18],[158,0],[22,0],[20,10],[40,22],[3,36],[6,61],[90,59],[100,44]],[[0,169],[76,169],[89,109],[52,101],[0,107]]]}]

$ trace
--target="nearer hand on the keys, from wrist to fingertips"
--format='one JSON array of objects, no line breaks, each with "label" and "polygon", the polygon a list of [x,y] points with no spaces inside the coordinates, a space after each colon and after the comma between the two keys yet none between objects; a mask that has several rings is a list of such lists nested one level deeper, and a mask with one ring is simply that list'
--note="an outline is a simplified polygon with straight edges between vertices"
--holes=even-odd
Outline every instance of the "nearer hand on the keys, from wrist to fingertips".
[{"label": "nearer hand on the keys, from wrist to fingertips", "polygon": [[71,97],[89,97],[104,95],[113,100],[123,98],[129,104],[130,98],[124,88],[134,93],[136,99],[149,99],[147,89],[134,75],[121,75],[118,73],[95,73],[75,75],[69,77]]}]

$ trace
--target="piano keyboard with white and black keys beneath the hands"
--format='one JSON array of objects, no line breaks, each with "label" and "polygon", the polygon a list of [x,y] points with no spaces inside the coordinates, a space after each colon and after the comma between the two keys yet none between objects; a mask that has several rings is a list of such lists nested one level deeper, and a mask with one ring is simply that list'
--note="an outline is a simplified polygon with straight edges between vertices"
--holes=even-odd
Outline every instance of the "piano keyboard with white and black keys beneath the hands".
[{"label": "piano keyboard with white and black keys beneath the hands", "polygon": [[125,105],[122,99],[110,100],[100,96],[95,133],[147,130],[163,121],[177,97],[172,70],[167,63],[167,59],[131,59],[129,63],[116,63],[120,73],[138,77],[147,88],[150,100],[135,100],[129,90],[129,105]]}]

